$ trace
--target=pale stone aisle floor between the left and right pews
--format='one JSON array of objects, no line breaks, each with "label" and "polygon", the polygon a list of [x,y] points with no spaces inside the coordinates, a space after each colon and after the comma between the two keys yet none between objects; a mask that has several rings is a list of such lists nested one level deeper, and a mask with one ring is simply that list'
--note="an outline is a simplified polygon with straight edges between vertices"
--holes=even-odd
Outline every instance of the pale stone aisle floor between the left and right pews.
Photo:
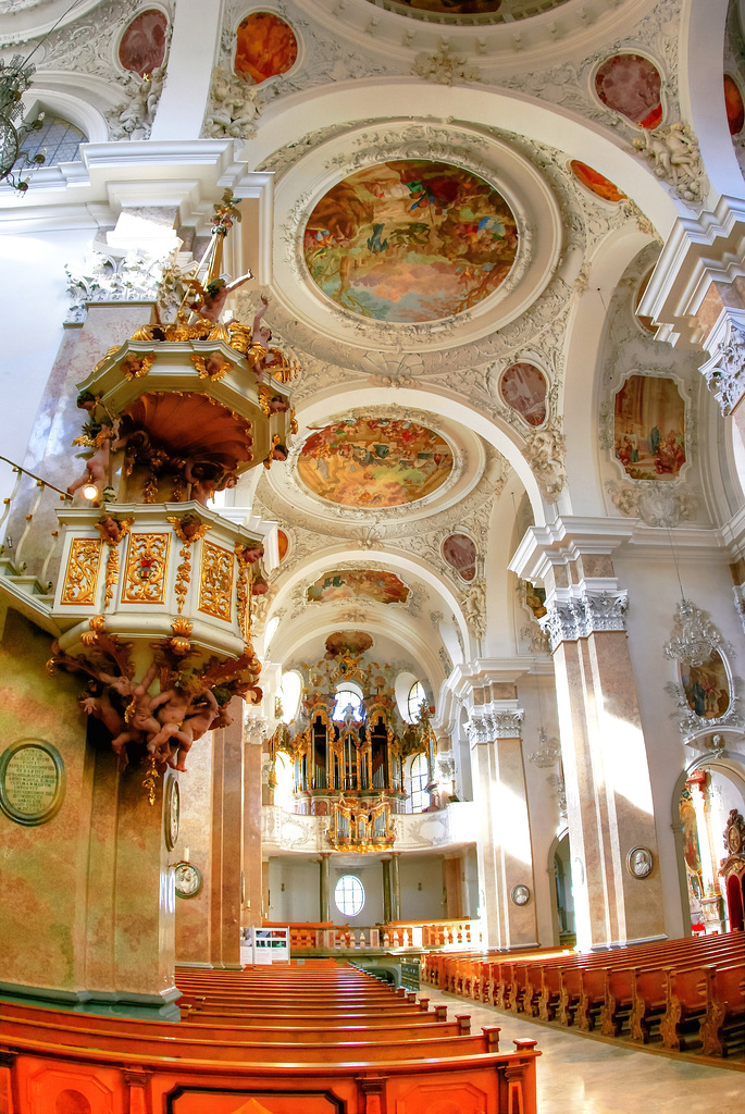
[{"label": "pale stone aisle floor between the left and right pews", "polygon": [[[471,1015],[471,1032],[500,1025],[500,1047],[513,1038],[538,1040],[539,1114],[745,1114],[745,1061],[726,1067],[669,1054],[637,1052],[422,987],[448,1017]],[[733,1071],[734,1068],[734,1071]]]}]

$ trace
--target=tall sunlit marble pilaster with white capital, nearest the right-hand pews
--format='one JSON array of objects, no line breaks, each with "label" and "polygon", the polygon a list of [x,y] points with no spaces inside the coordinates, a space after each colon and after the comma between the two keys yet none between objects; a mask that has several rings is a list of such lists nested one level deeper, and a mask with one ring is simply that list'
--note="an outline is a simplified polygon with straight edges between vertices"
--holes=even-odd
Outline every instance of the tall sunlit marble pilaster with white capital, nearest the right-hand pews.
[{"label": "tall sunlit marble pilaster with white capital, nearest the right-hand pews", "polygon": [[[559,526],[560,540],[555,529],[543,546],[533,531],[532,554],[522,545],[520,560],[547,590],[541,625],[556,671],[577,940],[601,948],[665,935],[657,832],[627,596],[610,556],[619,539],[572,538]],[[636,847],[653,856],[644,878],[628,867]]]}]

